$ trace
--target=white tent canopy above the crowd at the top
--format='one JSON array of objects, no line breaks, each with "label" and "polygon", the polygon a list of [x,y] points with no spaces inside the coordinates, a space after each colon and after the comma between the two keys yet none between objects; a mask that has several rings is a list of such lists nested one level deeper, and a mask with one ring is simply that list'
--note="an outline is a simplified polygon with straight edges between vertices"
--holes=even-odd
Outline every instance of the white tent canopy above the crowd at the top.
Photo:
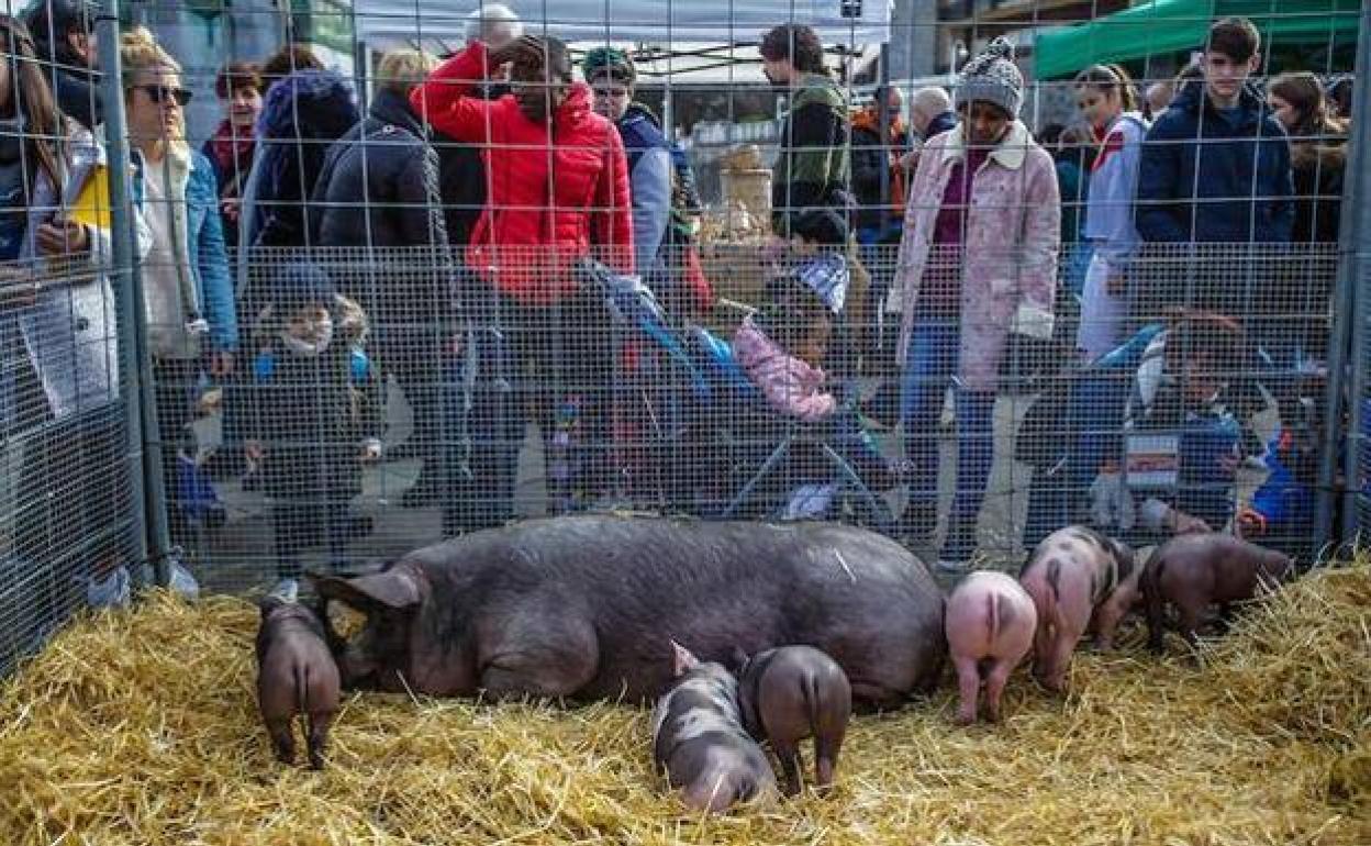
[{"label": "white tent canopy above the crowd at the top", "polygon": [[[532,34],[638,44],[755,43],[783,22],[814,27],[824,44],[890,40],[891,0],[506,0]],[[478,0],[355,0],[356,37],[374,45],[465,40]]]}]

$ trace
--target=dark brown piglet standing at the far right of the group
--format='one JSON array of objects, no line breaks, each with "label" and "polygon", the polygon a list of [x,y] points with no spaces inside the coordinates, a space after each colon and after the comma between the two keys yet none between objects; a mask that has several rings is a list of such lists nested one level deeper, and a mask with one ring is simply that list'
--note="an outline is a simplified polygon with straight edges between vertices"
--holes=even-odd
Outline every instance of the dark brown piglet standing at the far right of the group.
[{"label": "dark brown piglet standing at the far right of the group", "polygon": [[1211,605],[1219,605],[1227,624],[1234,603],[1256,596],[1260,585],[1275,587],[1293,575],[1294,562],[1283,553],[1233,535],[1178,535],[1157,547],[1142,573],[1149,646],[1158,653],[1163,649],[1167,603],[1176,607],[1180,635],[1194,646],[1200,618]]}]

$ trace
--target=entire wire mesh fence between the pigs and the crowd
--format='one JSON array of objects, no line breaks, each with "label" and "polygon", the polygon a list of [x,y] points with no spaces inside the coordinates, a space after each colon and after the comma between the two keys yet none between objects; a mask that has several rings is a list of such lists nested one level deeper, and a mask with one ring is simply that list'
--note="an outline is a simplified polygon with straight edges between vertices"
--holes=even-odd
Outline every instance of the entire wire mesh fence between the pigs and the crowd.
[{"label": "entire wire mesh fence between the pigs and the crowd", "polygon": [[1348,490],[1366,525],[1364,429],[1324,435],[1371,365],[1330,366],[1356,3],[133,3],[97,63],[48,3],[137,262],[40,285],[107,307],[48,328],[107,359],[67,420],[0,256],[0,661],[115,562],[243,591],[591,509],[1001,568],[1069,522],[1309,559]]}]

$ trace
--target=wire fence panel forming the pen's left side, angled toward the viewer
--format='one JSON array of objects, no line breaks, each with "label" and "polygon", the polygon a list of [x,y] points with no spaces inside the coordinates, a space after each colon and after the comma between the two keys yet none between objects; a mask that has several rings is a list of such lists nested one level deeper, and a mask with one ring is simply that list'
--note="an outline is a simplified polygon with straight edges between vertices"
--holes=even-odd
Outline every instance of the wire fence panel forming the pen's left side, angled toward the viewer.
[{"label": "wire fence panel forming the pen's left side, angled toward the viewer", "polygon": [[[88,21],[93,27],[93,18]],[[62,119],[45,80],[80,69],[5,19],[0,261],[0,675],[77,609],[145,581],[119,145]],[[112,29],[110,30],[112,33]],[[40,33],[38,43],[47,41]],[[118,63],[106,64],[118,74]],[[92,77],[93,80],[93,77]],[[84,92],[85,89],[82,89]],[[117,89],[115,89],[117,90]],[[97,88],[62,104],[85,106]],[[88,117],[89,119],[89,117]],[[132,457],[132,458],[130,458]]]}]

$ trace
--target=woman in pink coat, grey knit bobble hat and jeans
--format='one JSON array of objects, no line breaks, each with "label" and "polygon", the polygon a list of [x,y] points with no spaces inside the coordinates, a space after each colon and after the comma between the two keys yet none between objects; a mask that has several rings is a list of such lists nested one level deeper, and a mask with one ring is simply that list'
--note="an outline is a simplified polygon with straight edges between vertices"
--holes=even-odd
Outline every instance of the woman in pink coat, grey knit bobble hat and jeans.
[{"label": "woman in pink coat, grey knit bobble hat and jeans", "polygon": [[1053,328],[1061,206],[1052,156],[1016,119],[1021,104],[1013,48],[995,38],[961,71],[961,125],[919,156],[891,292],[902,311],[910,536],[936,524],[938,417],[949,383],[956,389],[957,495],[938,562],[949,572],[975,553],[1009,336],[1047,339]]}]

